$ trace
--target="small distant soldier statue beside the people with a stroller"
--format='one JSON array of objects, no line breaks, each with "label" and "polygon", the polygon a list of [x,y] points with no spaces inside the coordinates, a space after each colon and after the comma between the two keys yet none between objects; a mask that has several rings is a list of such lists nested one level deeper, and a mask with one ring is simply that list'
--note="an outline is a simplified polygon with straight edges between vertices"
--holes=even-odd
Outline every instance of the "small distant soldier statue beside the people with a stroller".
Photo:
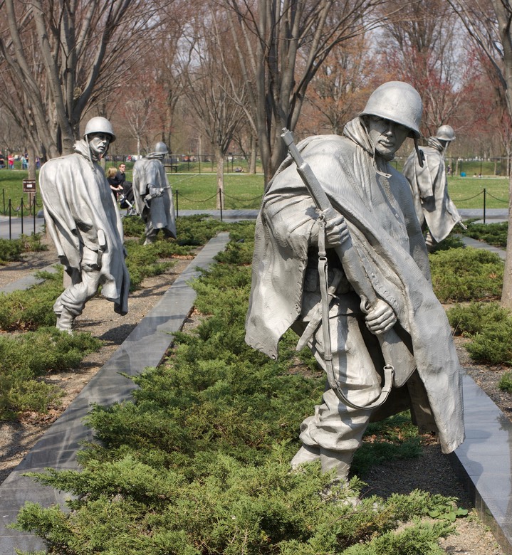
[{"label": "small distant soldier statue beside the people with a stroller", "polygon": [[162,159],[167,154],[164,142],[155,144],[155,152],[137,160],[133,166],[135,206],[146,224],[145,245],[153,243],[160,229],[176,238],[172,189],[167,181]]}]

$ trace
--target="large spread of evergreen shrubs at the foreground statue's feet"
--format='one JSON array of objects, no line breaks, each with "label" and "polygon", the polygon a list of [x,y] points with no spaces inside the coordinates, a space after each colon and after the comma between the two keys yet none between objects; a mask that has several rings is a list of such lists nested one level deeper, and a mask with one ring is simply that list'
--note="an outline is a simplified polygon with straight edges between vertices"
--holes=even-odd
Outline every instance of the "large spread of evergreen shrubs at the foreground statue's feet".
[{"label": "large spread of evergreen shrubs at the foreground statue's feet", "polygon": [[[132,378],[134,400],[90,413],[101,443],[80,453],[83,471],[32,475],[75,496],[70,512],[30,503],[19,514],[17,527],[45,538],[50,553],[441,552],[436,540],[451,527],[419,518],[454,499],[412,492],[367,497],[354,508],[343,499],[360,495],[357,478],[343,490],[330,487],[318,463],[290,471],[298,427],[324,379],[308,367],[310,354],[296,354],[293,334],[279,361],[244,343],[253,233],[254,226],[233,226],[219,263],[195,283],[196,307],[207,317],[177,334],[164,364]],[[410,443],[404,418],[370,428],[382,433],[370,450]]]}]

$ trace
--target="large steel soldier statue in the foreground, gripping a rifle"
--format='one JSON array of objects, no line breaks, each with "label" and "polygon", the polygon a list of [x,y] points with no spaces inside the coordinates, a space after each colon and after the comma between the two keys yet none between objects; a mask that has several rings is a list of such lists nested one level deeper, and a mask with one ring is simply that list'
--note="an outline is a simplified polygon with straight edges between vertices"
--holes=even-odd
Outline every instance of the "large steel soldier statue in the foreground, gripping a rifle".
[{"label": "large steel soldier statue in the foreground, gripping a rifle", "polygon": [[464,440],[451,329],[432,290],[409,184],[389,164],[407,137],[417,146],[421,116],[414,88],[385,83],[343,137],[298,144],[338,216],[320,212],[291,157],[263,196],[246,342],[276,359],[279,339],[292,328],[298,348],[308,344],[330,378],[301,425],[293,467],[320,460],[324,472],[345,480],[368,423],[405,408],[420,430],[437,432],[444,453]]}]

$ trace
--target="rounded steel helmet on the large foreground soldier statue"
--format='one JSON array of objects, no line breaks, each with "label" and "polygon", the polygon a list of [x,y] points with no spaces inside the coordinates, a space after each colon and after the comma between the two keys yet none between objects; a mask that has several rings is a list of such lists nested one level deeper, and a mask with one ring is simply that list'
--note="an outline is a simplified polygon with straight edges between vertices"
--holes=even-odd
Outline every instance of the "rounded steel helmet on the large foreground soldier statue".
[{"label": "rounded steel helmet on the large foreground soldier statue", "polygon": [[362,115],[383,117],[404,127],[409,127],[419,138],[423,103],[417,90],[402,81],[389,81],[377,87],[368,98]]}]

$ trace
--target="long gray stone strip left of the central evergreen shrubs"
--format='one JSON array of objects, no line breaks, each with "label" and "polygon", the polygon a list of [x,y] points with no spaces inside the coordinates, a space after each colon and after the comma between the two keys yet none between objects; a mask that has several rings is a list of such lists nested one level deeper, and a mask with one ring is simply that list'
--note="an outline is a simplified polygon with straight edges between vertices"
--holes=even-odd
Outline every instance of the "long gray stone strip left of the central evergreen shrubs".
[{"label": "long gray stone strip left of the central evergreen shrubs", "polygon": [[110,405],[130,398],[135,385],[120,372],[133,376],[147,366],[160,364],[172,343],[172,333],[181,329],[194,304],[196,294],[188,282],[199,275],[198,268],[207,268],[213,262],[228,240],[228,233],[220,233],[207,243],[160,302],[0,485],[0,555],[13,555],[15,547],[22,551],[44,549],[38,536],[7,529],[6,524],[16,520],[19,509],[27,501],[48,507],[51,504],[63,505],[68,496],[51,487],[38,485],[31,478],[24,477],[23,472],[41,472],[46,467],[62,470],[78,467],[75,455],[80,442],[93,439],[93,431],[83,424],[90,407],[94,403]]}]

